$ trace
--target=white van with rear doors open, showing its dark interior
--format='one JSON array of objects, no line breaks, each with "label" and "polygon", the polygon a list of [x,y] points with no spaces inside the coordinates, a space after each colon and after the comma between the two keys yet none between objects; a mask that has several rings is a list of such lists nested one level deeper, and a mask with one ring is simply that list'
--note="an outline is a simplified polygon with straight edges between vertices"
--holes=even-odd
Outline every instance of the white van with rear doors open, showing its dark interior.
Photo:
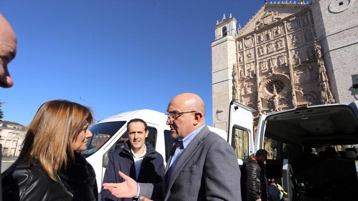
[{"label": "white van with rear doors open, showing its dark interior", "polygon": [[288,192],[284,200],[357,200],[358,102],[261,115],[231,102],[228,142],[242,165],[258,149],[269,153],[266,176]]}]

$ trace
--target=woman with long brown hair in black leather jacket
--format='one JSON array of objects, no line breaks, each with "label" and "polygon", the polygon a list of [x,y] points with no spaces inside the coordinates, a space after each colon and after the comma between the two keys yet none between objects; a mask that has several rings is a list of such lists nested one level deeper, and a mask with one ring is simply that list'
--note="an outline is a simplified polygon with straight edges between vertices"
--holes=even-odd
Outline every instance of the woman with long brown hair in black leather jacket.
[{"label": "woman with long brown hair in black leather jacket", "polygon": [[50,100],[30,123],[18,160],[1,176],[3,199],[20,201],[98,199],[95,171],[81,155],[92,136],[91,109]]}]

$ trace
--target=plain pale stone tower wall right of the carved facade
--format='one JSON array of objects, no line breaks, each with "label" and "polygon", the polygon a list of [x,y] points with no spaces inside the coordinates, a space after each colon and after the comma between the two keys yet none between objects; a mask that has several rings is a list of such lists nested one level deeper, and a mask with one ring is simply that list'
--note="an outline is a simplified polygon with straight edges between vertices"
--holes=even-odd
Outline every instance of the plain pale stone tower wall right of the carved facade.
[{"label": "plain pale stone tower wall right of the carved facade", "polygon": [[314,0],[311,9],[336,102],[357,100],[350,90],[358,74],[358,1]]}]

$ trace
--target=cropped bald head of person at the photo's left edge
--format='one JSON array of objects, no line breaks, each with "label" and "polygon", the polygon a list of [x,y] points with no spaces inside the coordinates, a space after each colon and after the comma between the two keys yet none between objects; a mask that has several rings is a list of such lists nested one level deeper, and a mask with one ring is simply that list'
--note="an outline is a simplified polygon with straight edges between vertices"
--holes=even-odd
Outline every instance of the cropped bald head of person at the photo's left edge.
[{"label": "cropped bald head of person at the photo's left edge", "polygon": [[8,64],[16,54],[16,36],[13,28],[3,15],[0,14],[0,87],[8,88],[13,85]]}]

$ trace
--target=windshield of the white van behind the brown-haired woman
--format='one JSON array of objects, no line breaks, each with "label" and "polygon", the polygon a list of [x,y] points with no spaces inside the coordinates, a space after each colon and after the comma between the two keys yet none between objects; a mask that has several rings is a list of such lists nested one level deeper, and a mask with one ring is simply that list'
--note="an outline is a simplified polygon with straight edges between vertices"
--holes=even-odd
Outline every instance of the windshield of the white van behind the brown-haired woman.
[{"label": "windshield of the white van behind the brown-haired woman", "polygon": [[123,127],[126,121],[106,122],[93,125],[89,130],[92,137],[88,139],[87,149],[82,151],[82,155],[87,158],[103,146],[117,131]]}]

